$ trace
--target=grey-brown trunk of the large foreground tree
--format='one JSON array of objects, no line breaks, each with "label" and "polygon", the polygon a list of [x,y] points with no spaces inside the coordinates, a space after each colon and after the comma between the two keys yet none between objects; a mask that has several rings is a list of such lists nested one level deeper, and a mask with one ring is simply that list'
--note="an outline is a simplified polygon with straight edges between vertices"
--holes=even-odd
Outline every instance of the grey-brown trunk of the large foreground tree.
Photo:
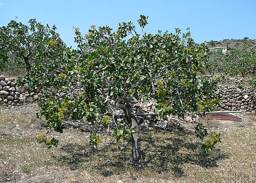
[{"label": "grey-brown trunk of the large foreground tree", "polygon": [[132,159],[133,161],[138,162],[141,158],[138,121],[131,105],[125,105],[123,110],[128,123],[136,129],[136,132],[132,133]]}]

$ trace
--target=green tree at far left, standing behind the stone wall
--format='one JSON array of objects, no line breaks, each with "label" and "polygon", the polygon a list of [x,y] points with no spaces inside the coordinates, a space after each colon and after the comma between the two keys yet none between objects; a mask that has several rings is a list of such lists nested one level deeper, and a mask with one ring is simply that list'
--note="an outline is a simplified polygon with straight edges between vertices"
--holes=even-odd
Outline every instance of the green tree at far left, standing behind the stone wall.
[{"label": "green tree at far left, standing behind the stone wall", "polygon": [[28,23],[27,26],[11,20],[7,26],[0,28],[0,60],[7,62],[10,58],[23,59],[26,70],[30,72],[31,62],[36,60],[43,44],[53,41],[63,45],[63,42],[55,32],[56,26],[43,26],[36,19],[31,19]]}]

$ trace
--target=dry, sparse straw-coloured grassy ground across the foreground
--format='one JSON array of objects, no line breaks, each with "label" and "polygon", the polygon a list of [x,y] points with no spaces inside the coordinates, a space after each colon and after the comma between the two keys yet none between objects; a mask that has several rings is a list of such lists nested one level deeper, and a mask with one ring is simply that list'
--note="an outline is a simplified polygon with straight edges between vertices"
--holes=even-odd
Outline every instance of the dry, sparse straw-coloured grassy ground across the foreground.
[{"label": "dry, sparse straw-coloured grassy ground across the foreground", "polygon": [[[15,108],[16,109],[16,108]],[[24,110],[22,110],[24,109]],[[88,132],[65,129],[59,147],[36,144],[43,121],[35,118],[35,105],[17,113],[1,108],[0,182],[255,182],[255,116],[247,122],[209,121],[221,131],[222,143],[211,154],[200,152],[194,132],[141,133],[142,162],[131,159],[129,141],[108,137],[106,148],[88,145]],[[14,109],[12,109],[14,110]],[[9,112],[8,112],[9,111]],[[205,123],[205,121],[202,121]],[[13,129],[13,125],[17,125]],[[34,124],[34,125],[32,125]],[[32,127],[31,127],[32,125]],[[84,130],[82,130],[84,131]]]}]

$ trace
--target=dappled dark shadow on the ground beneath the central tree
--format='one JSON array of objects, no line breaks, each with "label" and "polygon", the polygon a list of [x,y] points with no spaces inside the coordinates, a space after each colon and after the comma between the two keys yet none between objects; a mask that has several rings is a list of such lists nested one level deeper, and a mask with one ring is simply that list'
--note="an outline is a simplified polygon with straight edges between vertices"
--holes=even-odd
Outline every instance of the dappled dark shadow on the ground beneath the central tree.
[{"label": "dappled dark shadow on the ground beneath the central tree", "polygon": [[[84,169],[97,172],[107,177],[124,172],[153,171],[155,173],[172,173],[177,177],[184,175],[184,164],[198,165],[206,168],[218,167],[217,161],[228,155],[219,149],[212,153],[200,152],[201,143],[188,141],[187,131],[177,133],[142,134],[142,161],[135,164],[131,159],[131,142],[111,141],[105,149],[93,149],[89,145],[64,145],[64,155],[56,157],[72,170]],[[174,135],[175,134],[175,135]]]}]

